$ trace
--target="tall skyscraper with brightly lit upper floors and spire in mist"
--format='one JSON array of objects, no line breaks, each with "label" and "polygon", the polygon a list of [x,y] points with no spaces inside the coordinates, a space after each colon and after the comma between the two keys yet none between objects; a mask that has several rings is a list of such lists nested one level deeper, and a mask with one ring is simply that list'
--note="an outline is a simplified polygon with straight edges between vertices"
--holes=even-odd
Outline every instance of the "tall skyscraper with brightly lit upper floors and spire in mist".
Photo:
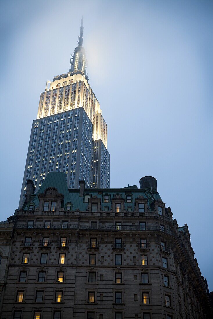
[{"label": "tall skyscraper with brightly lit upper floors and spire in mist", "polygon": [[21,189],[23,201],[27,180],[42,185],[48,172],[64,172],[68,188],[109,188],[110,156],[107,125],[86,73],[83,48],[83,18],[78,46],[70,70],[47,81],[41,93],[37,119],[33,121]]}]

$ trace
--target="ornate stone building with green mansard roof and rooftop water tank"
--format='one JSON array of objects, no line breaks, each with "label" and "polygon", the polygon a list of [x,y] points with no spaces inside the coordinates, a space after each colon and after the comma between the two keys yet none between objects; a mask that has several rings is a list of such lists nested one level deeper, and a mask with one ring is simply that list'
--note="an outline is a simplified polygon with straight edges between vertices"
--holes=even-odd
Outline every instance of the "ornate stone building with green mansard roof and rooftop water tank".
[{"label": "ornate stone building with green mansard roof and rooftop water tank", "polygon": [[36,195],[28,181],[13,222],[1,319],[212,318],[188,226],[154,177],[68,189],[50,172]]}]

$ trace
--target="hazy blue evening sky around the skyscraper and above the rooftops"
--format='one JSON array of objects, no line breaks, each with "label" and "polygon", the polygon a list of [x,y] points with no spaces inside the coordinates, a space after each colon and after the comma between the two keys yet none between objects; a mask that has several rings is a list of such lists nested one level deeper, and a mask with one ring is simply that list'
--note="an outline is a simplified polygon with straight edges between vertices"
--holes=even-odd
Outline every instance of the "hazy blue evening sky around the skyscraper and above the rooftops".
[{"label": "hazy blue evening sky around the skyscraper and above the rooftops", "polygon": [[82,14],[110,186],[157,179],[213,290],[212,1],[1,1],[0,220],[18,207],[40,93],[69,70]]}]

